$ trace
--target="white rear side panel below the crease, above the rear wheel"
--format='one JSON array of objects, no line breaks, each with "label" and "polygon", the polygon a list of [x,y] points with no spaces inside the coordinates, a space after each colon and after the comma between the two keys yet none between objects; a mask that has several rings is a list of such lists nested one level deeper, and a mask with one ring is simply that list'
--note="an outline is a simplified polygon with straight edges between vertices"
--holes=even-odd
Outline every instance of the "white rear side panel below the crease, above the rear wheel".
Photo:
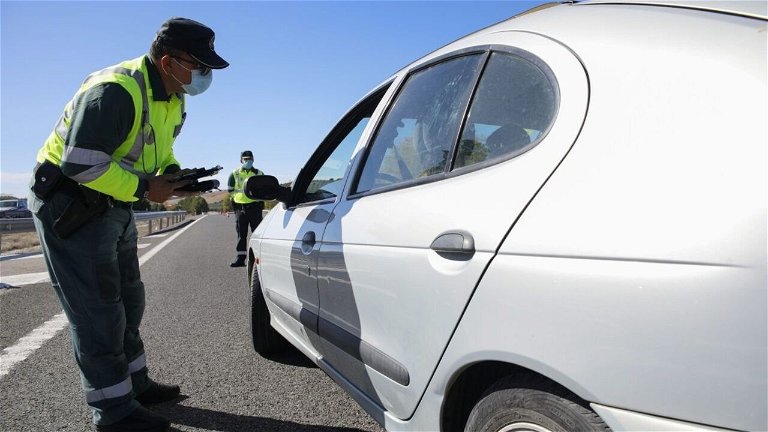
[{"label": "white rear side panel below the crease, above the rear wheel", "polygon": [[443,362],[509,362],[584,400],[760,430],[761,282],[742,267],[500,254]]}]

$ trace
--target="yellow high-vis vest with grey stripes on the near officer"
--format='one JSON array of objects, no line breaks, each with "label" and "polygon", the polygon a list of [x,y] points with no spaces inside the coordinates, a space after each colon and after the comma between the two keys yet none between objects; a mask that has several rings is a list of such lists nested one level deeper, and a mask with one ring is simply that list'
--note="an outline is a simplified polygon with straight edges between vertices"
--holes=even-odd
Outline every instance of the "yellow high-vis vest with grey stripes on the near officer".
[{"label": "yellow high-vis vest with grey stripes on the near officer", "polygon": [[[124,61],[89,75],[67,103],[53,132],[37,154],[61,166],[69,163],[90,166],[72,179],[120,201],[136,201],[139,177],[162,173],[170,165],[180,165],[173,155],[173,142],[184,123],[184,96],[172,95],[169,101],[155,101],[144,61],[146,56]],[[148,61],[148,60],[147,60]],[[102,151],[65,146],[74,104],[78,96],[93,86],[121,85],[133,99],[133,126],[125,141],[111,155]]]}]

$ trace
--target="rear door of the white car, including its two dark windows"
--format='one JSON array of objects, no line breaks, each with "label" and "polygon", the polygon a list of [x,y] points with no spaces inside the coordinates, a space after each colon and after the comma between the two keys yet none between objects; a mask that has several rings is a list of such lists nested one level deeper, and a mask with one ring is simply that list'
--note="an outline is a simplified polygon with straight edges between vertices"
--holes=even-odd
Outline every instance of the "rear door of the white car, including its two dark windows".
[{"label": "rear door of the white car, including its two dark windows", "polygon": [[580,62],[544,37],[476,37],[434,58],[403,79],[356,157],[318,257],[323,364],[369,412],[401,419],[588,100]]}]

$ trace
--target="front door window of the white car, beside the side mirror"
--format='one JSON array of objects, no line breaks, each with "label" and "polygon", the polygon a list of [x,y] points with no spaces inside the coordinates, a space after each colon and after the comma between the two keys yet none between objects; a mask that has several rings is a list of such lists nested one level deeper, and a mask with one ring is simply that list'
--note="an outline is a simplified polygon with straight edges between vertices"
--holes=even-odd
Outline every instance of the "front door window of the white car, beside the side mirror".
[{"label": "front door window of the white car, beside the side mirror", "polygon": [[352,152],[388,88],[386,84],[371,93],[334,126],[296,179],[296,204],[333,199],[341,194]]}]

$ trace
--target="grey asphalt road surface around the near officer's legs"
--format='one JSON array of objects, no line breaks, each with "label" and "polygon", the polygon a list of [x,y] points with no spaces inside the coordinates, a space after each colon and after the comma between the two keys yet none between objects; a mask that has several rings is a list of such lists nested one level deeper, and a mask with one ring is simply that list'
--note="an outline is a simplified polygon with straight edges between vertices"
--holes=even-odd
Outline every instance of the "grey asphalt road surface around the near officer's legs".
[{"label": "grey asphalt road surface around the near officer's legs", "polygon": [[[253,351],[246,271],[228,265],[233,225],[210,215],[183,232],[139,239],[147,245],[140,256],[166,242],[141,267],[150,374],[179,384],[183,395],[153,410],[180,431],[381,431],[298,351],[272,360]],[[44,271],[40,256],[0,261],[3,278]],[[60,312],[50,283],[0,290],[0,349]],[[92,430],[71,351],[65,327],[0,375],[1,431]]]}]

